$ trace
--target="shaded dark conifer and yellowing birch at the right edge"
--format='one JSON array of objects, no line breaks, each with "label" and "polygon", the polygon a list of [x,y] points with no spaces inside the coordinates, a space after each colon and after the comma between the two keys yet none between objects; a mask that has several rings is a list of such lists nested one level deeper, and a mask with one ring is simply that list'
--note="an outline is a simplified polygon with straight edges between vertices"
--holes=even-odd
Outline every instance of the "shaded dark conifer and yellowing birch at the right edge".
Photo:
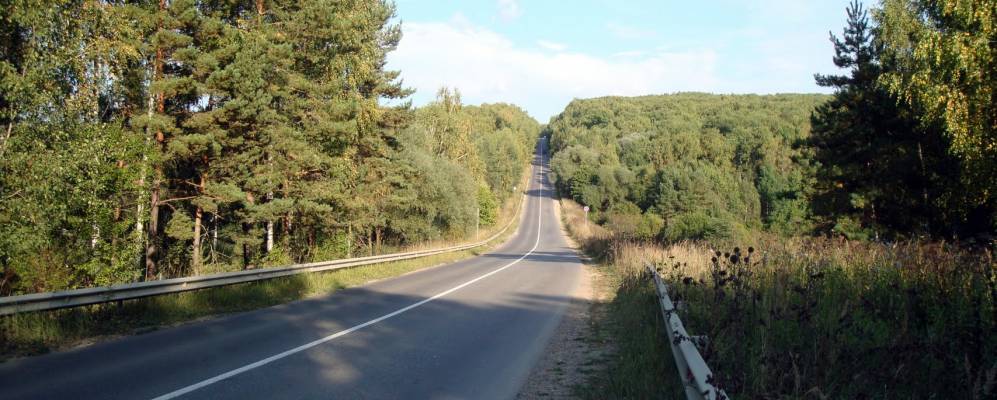
[{"label": "shaded dark conifer and yellowing birch at the right edge", "polygon": [[[879,26],[872,25],[862,6],[853,3],[844,36],[832,35],[834,63],[849,73],[817,76],[818,84],[836,91],[814,113],[809,140],[818,166],[812,205],[822,231],[891,238],[985,236],[997,229],[993,225],[997,203],[989,194],[993,174],[987,172],[992,166],[980,162],[984,150],[965,148],[969,141],[985,142],[986,129],[974,128],[981,136],[970,140],[962,128],[953,125],[966,121],[947,123],[937,115],[937,102],[952,100],[950,96],[968,88],[936,80],[951,71],[936,74],[929,65],[933,61],[925,60],[927,53],[922,52],[934,54],[930,58],[937,56],[940,62],[954,55],[935,49],[942,39],[931,29],[911,25],[923,21],[916,22],[909,14],[915,9],[924,11],[926,17],[965,10],[961,6],[956,9],[962,11],[929,10],[953,2],[932,3],[931,7],[915,3],[885,2],[876,12]],[[944,24],[949,23],[955,19],[946,18]],[[980,40],[962,33],[959,37]],[[978,74],[972,72],[974,68],[986,67],[958,68],[974,75]],[[929,90],[935,94],[925,93]],[[925,98],[935,95],[941,97]],[[974,110],[985,112],[991,101],[985,102]],[[953,100],[949,110],[966,105]]]}]

